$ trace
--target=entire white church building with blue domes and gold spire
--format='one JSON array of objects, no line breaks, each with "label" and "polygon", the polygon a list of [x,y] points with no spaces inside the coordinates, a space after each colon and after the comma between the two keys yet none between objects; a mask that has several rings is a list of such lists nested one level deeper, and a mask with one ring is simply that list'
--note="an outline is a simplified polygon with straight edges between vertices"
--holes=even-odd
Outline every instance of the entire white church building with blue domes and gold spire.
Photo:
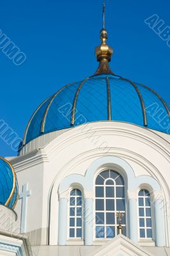
[{"label": "entire white church building with blue domes and gold spire", "polygon": [[111,70],[107,39],[103,5],[96,73],[45,99],[0,158],[0,255],[170,256],[170,108]]}]

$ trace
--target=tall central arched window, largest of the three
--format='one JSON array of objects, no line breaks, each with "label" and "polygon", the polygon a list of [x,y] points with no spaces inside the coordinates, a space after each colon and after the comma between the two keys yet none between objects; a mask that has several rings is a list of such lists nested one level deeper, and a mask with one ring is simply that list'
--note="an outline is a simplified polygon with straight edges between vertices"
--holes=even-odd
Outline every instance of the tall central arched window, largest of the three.
[{"label": "tall central arched window, largest of the three", "polygon": [[123,234],[125,235],[125,189],[122,176],[106,170],[96,178],[96,238],[117,236],[117,213],[122,212]]}]

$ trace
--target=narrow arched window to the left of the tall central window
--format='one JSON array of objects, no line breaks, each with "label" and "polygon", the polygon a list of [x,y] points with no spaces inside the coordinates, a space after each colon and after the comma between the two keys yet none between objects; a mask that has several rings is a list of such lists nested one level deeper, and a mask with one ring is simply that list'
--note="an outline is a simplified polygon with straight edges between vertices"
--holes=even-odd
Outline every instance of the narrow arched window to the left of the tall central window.
[{"label": "narrow arched window to the left of the tall central window", "polygon": [[82,200],[80,189],[72,189],[69,200],[69,238],[82,238]]}]

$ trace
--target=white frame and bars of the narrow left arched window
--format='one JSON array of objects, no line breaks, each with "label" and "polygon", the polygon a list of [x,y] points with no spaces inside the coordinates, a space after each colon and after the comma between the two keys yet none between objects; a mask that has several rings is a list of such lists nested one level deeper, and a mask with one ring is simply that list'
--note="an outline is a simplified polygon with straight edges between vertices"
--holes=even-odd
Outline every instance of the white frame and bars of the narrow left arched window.
[{"label": "white frame and bars of the narrow left arched window", "polygon": [[[73,189],[78,189],[78,190],[81,191],[81,196],[75,196],[75,198],[80,198],[81,197],[81,205],[73,205],[73,207],[71,207],[70,198],[74,197],[74,196],[71,196],[71,191]],[[77,207],[81,208],[81,216],[78,216],[78,217],[76,215],[71,216],[70,215],[70,208],[75,208],[76,209]],[[81,227],[76,227],[75,223],[74,223],[74,227],[70,227],[70,225],[69,225],[70,218],[74,218],[75,221],[76,221],[76,218],[81,218]],[[70,228],[74,229],[74,237],[69,236]],[[81,229],[81,237],[76,237],[76,228]],[[67,202],[67,241],[82,241],[82,240],[83,240],[83,193],[82,193],[81,188],[72,187],[72,188],[69,188],[69,197],[68,197],[68,202]]]}]

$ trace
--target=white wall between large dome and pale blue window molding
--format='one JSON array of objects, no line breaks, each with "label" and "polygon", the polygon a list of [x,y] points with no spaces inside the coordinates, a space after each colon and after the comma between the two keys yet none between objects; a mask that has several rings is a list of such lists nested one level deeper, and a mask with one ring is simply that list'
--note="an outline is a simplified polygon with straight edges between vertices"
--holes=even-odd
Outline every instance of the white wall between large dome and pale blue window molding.
[{"label": "white wall between large dome and pale blue window molding", "polygon": [[[150,175],[158,180],[170,216],[169,143],[142,127],[121,122],[96,122],[70,129],[52,140],[44,148],[11,159],[17,172],[19,190],[29,184],[27,232],[39,230],[38,241],[57,244],[58,188],[71,173],[85,175],[89,165],[101,156],[121,157],[129,163],[137,176]],[[50,202],[51,200],[51,202]],[[20,216],[20,203],[16,207]],[[170,244],[170,218],[166,219],[167,246]],[[33,237],[36,232],[32,233]],[[34,239],[32,238],[32,241]]]}]

